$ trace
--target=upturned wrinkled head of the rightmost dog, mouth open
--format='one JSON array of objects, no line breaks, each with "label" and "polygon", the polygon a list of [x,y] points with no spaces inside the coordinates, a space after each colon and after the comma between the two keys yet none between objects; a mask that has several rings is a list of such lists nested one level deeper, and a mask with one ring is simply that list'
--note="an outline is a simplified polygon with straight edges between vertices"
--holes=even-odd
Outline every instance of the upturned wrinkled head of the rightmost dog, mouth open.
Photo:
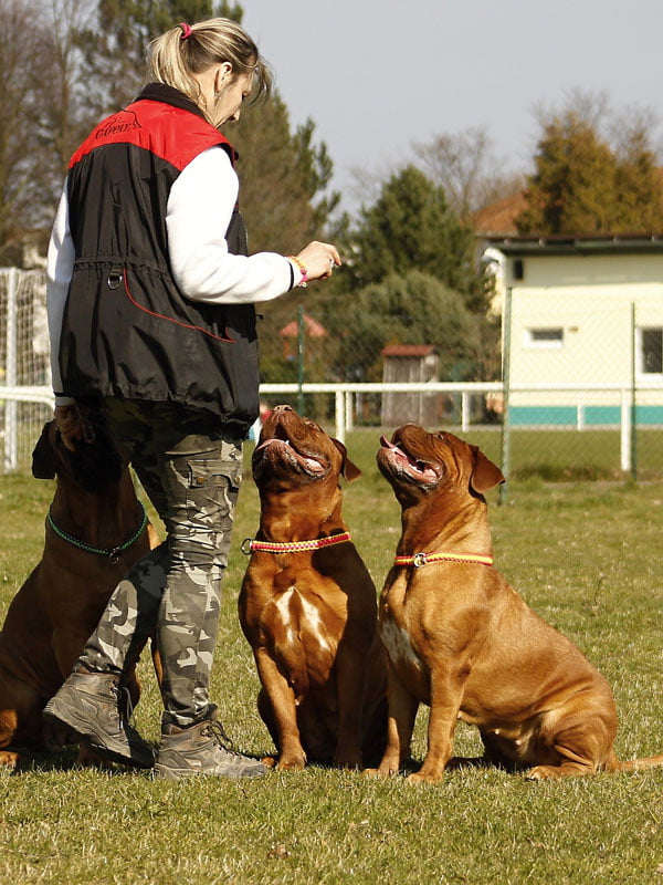
[{"label": "upturned wrinkled head of the rightmost dog, mouth open", "polygon": [[378,467],[394,491],[428,493],[441,488],[463,488],[476,494],[492,489],[504,477],[476,446],[453,434],[430,434],[415,424],[382,437]]}]

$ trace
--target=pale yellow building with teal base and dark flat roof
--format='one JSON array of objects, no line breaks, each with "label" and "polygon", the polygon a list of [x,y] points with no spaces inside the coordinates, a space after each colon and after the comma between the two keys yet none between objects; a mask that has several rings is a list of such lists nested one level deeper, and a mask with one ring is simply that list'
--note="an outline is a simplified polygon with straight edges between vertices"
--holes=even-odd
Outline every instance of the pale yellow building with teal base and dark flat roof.
[{"label": "pale yellow building with teal base and dark flat roof", "polygon": [[512,424],[663,425],[663,237],[484,241]]}]

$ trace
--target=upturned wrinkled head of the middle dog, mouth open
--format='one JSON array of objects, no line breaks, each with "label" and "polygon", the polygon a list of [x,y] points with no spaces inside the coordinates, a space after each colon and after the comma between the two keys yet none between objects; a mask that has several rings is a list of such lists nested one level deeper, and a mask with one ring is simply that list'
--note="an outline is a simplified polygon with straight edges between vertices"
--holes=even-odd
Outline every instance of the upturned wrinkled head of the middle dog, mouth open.
[{"label": "upturned wrinkled head of the middle dog, mouth open", "polygon": [[303,485],[338,479],[339,475],[348,480],[359,476],[345,446],[290,406],[276,406],[270,414],[253,452],[252,468],[259,486],[270,479]]}]

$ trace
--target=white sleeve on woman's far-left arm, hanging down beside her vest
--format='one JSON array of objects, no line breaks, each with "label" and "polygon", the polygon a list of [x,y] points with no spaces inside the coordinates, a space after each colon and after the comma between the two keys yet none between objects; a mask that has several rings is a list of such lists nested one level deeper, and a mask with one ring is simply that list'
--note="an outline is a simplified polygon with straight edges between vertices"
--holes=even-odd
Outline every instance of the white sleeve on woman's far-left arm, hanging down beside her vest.
[{"label": "white sleeve on woman's far-left arm, hanging down beside her vest", "polygon": [[[49,313],[49,336],[51,339],[51,375],[53,391],[62,393],[62,378],[60,376],[60,336],[62,334],[62,317],[69,285],[74,271],[74,243],[69,225],[69,200],[66,197],[66,181],[57,206],[49,253],[46,259],[46,310]],[[73,402],[71,398],[56,397],[57,405]]]}]

